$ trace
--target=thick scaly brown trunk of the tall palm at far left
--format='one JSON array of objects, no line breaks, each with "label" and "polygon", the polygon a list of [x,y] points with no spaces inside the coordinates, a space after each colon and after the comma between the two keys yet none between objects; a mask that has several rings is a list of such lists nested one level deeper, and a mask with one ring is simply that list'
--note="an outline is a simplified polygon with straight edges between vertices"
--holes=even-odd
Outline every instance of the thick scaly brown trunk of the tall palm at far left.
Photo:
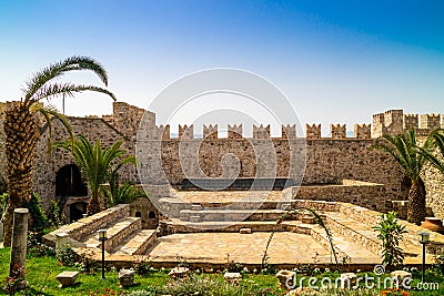
[{"label": "thick scaly brown trunk of the tall palm at far left", "polygon": [[8,203],[3,214],[4,246],[11,245],[13,211],[23,198],[30,200],[33,190],[32,164],[39,137],[32,114],[22,104],[4,112],[3,124],[8,160]]}]

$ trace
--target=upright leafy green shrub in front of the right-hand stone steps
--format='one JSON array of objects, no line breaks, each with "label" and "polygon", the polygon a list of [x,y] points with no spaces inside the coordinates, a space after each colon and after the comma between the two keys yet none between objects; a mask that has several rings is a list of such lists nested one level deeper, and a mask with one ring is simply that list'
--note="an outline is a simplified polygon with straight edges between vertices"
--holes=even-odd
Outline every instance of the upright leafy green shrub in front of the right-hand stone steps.
[{"label": "upright leafy green shrub in front of the right-hand stone steps", "polygon": [[404,254],[400,247],[400,241],[403,239],[404,233],[407,233],[405,225],[400,225],[396,218],[396,212],[381,214],[381,222],[373,227],[379,232],[377,238],[382,241],[382,263],[389,268],[403,264]]}]

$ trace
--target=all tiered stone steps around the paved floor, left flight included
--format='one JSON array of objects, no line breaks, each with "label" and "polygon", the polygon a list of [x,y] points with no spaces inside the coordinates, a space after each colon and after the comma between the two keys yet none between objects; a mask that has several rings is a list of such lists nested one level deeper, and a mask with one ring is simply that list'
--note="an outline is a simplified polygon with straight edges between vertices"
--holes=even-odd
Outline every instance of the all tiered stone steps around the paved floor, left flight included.
[{"label": "all tiered stone steps around the paved floor, left flight included", "polygon": [[[172,201],[173,198],[170,198]],[[381,245],[372,226],[377,224],[380,213],[347,203],[293,200],[291,203],[256,201],[228,203],[180,203],[172,201],[175,215],[163,221],[162,235],[188,233],[250,233],[250,232],[294,232],[310,235],[325,249],[331,251],[331,244],[325,229],[315,223],[315,218],[307,212],[285,215],[281,224],[276,220],[285,214],[285,207],[311,208],[321,215],[329,227],[334,251],[340,262],[346,258],[352,264],[381,263]],[[222,207],[223,206],[223,207]],[[222,208],[221,208],[222,207]],[[254,207],[258,207],[254,210]],[[401,242],[406,263],[417,264],[421,259],[422,245],[418,243],[417,232],[423,228],[401,221],[406,225],[407,234]],[[118,205],[46,235],[48,244],[56,246],[58,236],[62,233],[68,243],[79,253],[92,251],[100,258],[101,242],[97,231],[108,229],[108,239],[104,243],[105,259],[112,262],[131,263],[138,255],[147,255],[157,242],[157,229],[142,229],[140,217],[130,216],[129,205]],[[241,231],[242,229],[242,231]],[[248,232],[245,232],[245,229]],[[427,246],[428,253],[436,253],[444,248],[444,236],[433,234],[432,243]],[[59,238],[60,241],[60,238]],[[60,242],[59,242],[60,243]]]}]

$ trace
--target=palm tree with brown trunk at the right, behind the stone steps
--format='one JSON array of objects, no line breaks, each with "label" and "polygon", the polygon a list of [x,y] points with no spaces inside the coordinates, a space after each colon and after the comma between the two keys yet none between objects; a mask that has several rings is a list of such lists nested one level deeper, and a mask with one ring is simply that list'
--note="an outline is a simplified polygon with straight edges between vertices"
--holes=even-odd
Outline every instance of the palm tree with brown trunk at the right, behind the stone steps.
[{"label": "palm tree with brown trunk at the right, behind the stone steps", "polygon": [[[425,186],[421,178],[421,173],[427,159],[417,149],[415,131],[410,130],[405,134],[394,136],[383,135],[376,140],[372,149],[391,154],[401,167],[404,169],[406,176],[411,180],[407,221],[421,224],[425,217]],[[421,149],[431,152],[433,150],[432,137],[428,136]]]}]

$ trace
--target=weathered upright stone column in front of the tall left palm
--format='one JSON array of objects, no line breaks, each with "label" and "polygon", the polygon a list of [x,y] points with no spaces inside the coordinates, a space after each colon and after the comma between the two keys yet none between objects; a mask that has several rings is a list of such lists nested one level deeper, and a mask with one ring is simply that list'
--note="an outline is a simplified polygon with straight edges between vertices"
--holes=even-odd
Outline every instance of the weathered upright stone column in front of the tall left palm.
[{"label": "weathered upright stone column in front of the tall left palm", "polygon": [[28,208],[16,208],[13,214],[9,276],[24,279],[27,259]]}]

